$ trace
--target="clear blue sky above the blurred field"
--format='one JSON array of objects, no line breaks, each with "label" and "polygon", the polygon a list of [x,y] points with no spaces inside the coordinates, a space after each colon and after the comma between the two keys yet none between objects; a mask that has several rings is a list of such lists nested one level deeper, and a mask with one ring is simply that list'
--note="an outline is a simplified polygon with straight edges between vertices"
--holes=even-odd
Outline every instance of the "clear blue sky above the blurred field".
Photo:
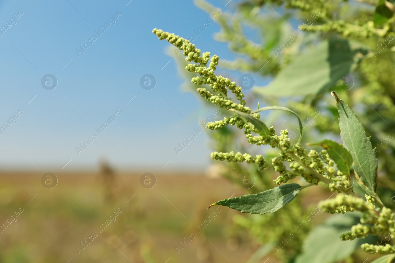
[{"label": "clear blue sky above the blurred field", "polygon": [[[30,1],[3,1],[0,8],[0,25],[13,23],[0,36],[0,125],[23,110],[0,134],[3,169],[92,169],[101,157],[122,169],[157,170],[166,162],[164,170],[201,168],[209,162],[205,134],[175,154],[174,147],[213,110],[182,91],[175,61],[165,52],[169,43],[151,32],[156,27],[189,38],[207,13],[192,1]],[[224,10],[232,4],[211,2]],[[23,15],[15,19],[18,12]],[[117,12],[122,14],[98,35],[95,30]],[[214,41],[218,30],[216,23],[209,26],[194,43],[234,58],[225,43]],[[84,41],[91,44],[78,54]],[[41,86],[47,74],[58,81],[53,90]],[[141,88],[145,74],[156,78],[154,89]],[[95,132],[117,109],[122,113],[115,123]],[[78,154],[76,147],[92,133],[98,138]]]}]

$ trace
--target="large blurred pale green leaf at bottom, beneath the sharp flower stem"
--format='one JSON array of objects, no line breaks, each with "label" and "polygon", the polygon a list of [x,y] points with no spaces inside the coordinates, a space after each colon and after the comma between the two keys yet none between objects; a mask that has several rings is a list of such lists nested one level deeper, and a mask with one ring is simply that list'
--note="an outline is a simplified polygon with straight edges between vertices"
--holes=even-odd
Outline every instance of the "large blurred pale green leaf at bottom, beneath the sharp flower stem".
[{"label": "large blurred pale green leaf at bottom, beneath the sharp flower stem", "polygon": [[[339,236],[359,223],[357,213],[330,216],[324,224],[308,234],[303,243],[303,253],[295,263],[334,263],[350,256],[365,240],[342,241]],[[303,226],[303,225],[302,225]],[[293,233],[297,235],[297,232]]]}]

